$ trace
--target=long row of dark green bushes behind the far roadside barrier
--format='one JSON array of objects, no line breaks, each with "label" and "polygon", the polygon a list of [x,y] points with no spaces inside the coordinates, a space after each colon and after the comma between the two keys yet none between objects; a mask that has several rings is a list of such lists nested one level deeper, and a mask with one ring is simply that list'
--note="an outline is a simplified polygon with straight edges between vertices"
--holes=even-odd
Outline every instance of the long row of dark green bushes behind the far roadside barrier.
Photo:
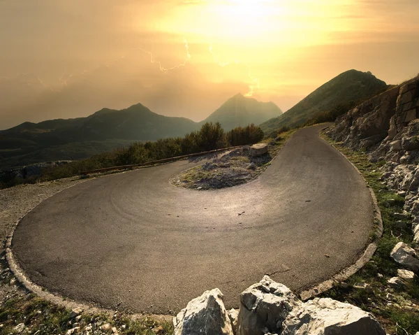
[{"label": "long row of dark green bushes behind the far roadside barrier", "polygon": [[145,143],[135,142],[128,148],[119,148],[110,152],[103,152],[89,159],[45,168],[41,172],[41,176],[20,178],[15,176],[15,173],[3,173],[0,177],[0,188],[78,176],[83,171],[110,166],[143,164],[159,159],[226,148],[230,145],[237,145],[238,142],[242,145],[253,144],[260,141],[261,138],[263,138],[263,131],[254,124],[244,128],[238,127],[226,134],[219,122],[215,124],[206,122],[199,131],[192,131],[183,138],[163,138]]}]

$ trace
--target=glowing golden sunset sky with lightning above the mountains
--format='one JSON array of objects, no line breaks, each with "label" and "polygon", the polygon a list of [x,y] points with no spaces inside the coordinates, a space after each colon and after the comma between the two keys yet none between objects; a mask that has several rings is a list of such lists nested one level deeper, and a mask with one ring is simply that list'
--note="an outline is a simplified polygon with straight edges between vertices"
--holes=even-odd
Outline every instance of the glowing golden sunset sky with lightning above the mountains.
[{"label": "glowing golden sunset sky with lightning above the mountains", "polygon": [[287,111],[339,73],[419,72],[418,0],[0,0],[0,129],[141,103]]}]

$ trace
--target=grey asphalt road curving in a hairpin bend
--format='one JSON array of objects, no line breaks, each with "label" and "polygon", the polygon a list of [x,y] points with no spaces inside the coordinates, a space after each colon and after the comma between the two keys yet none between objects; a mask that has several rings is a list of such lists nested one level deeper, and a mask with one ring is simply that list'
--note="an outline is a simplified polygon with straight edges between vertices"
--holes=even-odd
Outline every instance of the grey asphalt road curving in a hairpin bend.
[{"label": "grey asphalt road curving in a hairpin bend", "polygon": [[31,211],[12,248],[47,290],[136,312],[177,312],[214,287],[237,307],[265,274],[293,290],[318,283],[355,261],[373,225],[365,182],[319,129],[297,131],[237,187],[170,185],[202,164],[188,161],[76,185]]}]

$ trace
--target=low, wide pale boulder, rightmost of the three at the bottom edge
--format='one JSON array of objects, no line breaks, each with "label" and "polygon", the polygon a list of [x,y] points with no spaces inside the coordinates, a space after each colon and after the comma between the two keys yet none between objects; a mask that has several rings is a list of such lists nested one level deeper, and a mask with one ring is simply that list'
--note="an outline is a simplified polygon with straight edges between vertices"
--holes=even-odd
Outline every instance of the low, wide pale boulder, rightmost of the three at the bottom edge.
[{"label": "low, wide pale boulder, rightmost of the three at the bottom edge", "polygon": [[385,335],[374,317],[330,298],[316,298],[294,308],[281,335]]}]

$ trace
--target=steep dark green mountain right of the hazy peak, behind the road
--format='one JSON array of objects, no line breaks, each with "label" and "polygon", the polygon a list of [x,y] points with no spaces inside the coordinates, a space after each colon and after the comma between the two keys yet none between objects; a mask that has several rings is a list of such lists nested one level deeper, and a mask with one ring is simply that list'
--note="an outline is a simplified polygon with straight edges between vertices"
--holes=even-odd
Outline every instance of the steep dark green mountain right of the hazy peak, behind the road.
[{"label": "steep dark green mountain right of the hazy peak, behind the road", "polygon": [[383,80],[377,79],[371,72],[346,71],[318,87],[286,113],[263,122],[260,127],[265,133],[269,133],[284,126],[299,126],[335,106],[365,101],[387,87]]}]

